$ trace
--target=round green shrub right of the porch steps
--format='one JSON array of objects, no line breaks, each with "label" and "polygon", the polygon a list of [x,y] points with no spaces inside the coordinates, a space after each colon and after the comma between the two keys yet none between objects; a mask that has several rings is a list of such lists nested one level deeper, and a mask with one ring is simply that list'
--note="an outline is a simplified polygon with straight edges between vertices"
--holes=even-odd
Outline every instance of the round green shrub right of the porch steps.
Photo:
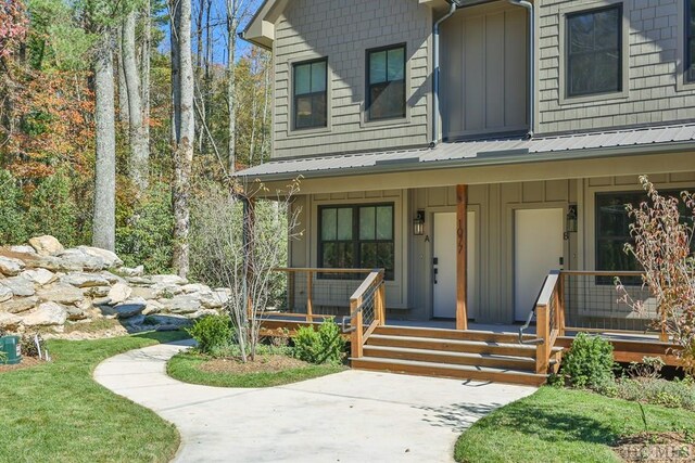
[{"label": "round green shrub right of the porch steps", "polygon": [[612,380],[612,346],[601,336],[579,333],[563,359],[563,373],[574,387],[597,388]]}]

